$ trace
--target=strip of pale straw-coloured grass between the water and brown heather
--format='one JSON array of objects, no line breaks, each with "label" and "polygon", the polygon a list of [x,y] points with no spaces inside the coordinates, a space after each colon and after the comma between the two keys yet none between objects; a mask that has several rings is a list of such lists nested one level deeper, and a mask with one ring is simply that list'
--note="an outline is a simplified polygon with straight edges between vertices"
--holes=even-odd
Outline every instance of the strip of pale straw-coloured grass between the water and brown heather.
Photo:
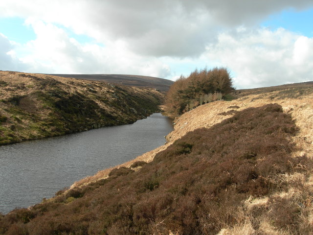
[{"label": "strip of pale straw-coloured grass between the water and brown heather", "polygon": [[[289,88],[287,88],[289,89]],[[312,86],[313,89],[313,86]],[[255,89],[257,90],[257,89]],[[262,90],[262,89],[260,89]],[[115,166],[129,167],[135,161],[151,162],[156,154],[166,149],[174,141],[179,140],[188,132],[194,131],[199,128],[209,128],[217,123],[220,123],[230,115],[220,115],[223,112],[236,107],[236,111],[241,111],[250,107],[260,107],[269,103],[278,103],[282,106],[284,112],[291,114],[295,120],[297,127],[299,127],[298,134],[293,137],[293,141],[297,144],[300,152],[296,152],[295,155],[307,155],[313,156],[313,94],[307,94],[301,98],[284,98],[275,99],[270,98],[273,94],[277,94],[277,91],[263,92],[260,94],[249,94],[250,90],[246,90],[246,95],[239,97],[232,101],[216,101],[205,105],[201,105],[174,120],[174,131],[166,136],[167,143],[160,146],[150,152],[147,152],[141,156],[138,156],[134,160]],[[259,93],[259,92],[258,92]],[[261,96],[261,97],[260,97]],[[239,107],[239,108],[237,108]],[[74,186],[78,186],[81,183],[86,184],[90,181],[96,181],[97,179],[105,178],[110,170],[105,169],[99,171],[95,176],[88,177],[88,179],[82,179],[79,182],[75,182]]]}]

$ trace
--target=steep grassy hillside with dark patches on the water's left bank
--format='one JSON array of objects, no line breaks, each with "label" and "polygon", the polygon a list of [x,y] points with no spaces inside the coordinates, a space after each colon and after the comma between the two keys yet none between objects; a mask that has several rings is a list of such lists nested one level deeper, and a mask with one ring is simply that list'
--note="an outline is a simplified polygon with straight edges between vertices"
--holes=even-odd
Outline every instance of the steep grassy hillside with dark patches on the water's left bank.
[{"label": "steep grassy hillside with dark patches on the water's left bank", "polygon": [[133,123],[163,100],[156,89],[0,71],[0,145]]}]

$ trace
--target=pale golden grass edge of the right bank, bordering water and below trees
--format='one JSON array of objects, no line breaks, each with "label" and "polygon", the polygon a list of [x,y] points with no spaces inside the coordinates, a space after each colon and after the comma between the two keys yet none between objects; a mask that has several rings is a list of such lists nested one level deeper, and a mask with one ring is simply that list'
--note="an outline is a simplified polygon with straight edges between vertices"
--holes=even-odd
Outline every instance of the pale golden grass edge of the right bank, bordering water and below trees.
[{"label": "pale golden grass edge of the right bank, bordering water and below trees", "polygon": [[[254,95],[254,96],[256,97],[257,95]],[[175,141],[179,140],[188,132],[194,131],[199,128],[209,128],[217,123],[220,123],[226,118],[232,117],[236,112],[226,113],[227,111],[231,109],[231,107],[237,106],[238,108],[236,108],[236,111],[242,111],[250,107],[260,107],[269,103],[278,103],[283,106],[284,112],[291,113],[294,119],[301,118],[301,120],[303,120],[307,118],[310,121],[312,117],[310,116],[310,114],[306,114],[305,112],[302,112],[301,111],[302,108],[300,105],[303,103],[310,104],[311,102],[313,103],[313,98],[311,97],[311,95],[309,95],[306,98],[306,102],[301,102],[301,101],[299,102],[299,99],[272,100],[270,98],[262,98],[262,99],[252,98],[251,102],[247,103],[245,101],[245,98],[238,98],[232,101],[215,101],[215,102],[198,106],[197,108],[173,120],[174,130],[166,136],[166,143],[164,145],[159,146],[158,148],[152,151],[149,151],[143,155],[140,155],[126,163],[100,170],[95,175],[88,176],[86,178],[83,178],[75,182],[70,188],[84,186],[89,183],[96,182],[101,179],[105,179],[108,177],[112,169],[119,168],[119,167],[130,167],[130,165],[136,161],[145,161],[146,163],[153,161],[157,153],[167,149],[167,147],[169,147]],[[309,116],[306,118],[303,117],[307,115]],[[299,123],[296,123],[296,124],[299,125]],[[296,141],[297,145],[299,146],[301,145],[301,148],[306,149],[307,153],[313,154],[313,149],[310,147],[310,143],[313,142],[313,130],[310,129],[308,125],[302,125],[302,128],[303,128],[302,132],[300,132],[296,137],[294,137],[295,139],[294,141]],[[303,142],[302,141],[303,139],[307,141]],[[303,153],[300,153],[300,155],[303,155]]]}]

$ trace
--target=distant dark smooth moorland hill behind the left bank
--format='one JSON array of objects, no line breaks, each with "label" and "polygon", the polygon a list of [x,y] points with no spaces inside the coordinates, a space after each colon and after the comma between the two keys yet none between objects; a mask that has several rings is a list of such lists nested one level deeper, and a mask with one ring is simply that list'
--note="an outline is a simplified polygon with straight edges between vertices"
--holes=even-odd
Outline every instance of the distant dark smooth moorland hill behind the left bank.
[{"label": "distant dark smooth moorland hill behind the left bank", "polygon": [[55,75],[60,77],[72,77],[76,79],[93,81],[105,81],[125,86],[155,88],[163,92],[168,91],[170,86],[174,83],[171,80],[158,77],[126,75],[126,74],[49,74],[49,75]]}]

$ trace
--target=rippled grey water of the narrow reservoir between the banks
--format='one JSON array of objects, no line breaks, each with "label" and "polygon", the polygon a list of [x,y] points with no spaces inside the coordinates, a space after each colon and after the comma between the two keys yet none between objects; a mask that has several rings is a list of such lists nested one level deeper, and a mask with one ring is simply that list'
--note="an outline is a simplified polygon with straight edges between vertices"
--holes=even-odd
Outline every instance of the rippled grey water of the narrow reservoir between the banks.
[{"label": "rippled grey water of the narrow reservoir between the banks", "polygon": [[98,170],[165,143],[173,130],[161,114],[134,124],[0,146],[0,212],[28,207]]}]

